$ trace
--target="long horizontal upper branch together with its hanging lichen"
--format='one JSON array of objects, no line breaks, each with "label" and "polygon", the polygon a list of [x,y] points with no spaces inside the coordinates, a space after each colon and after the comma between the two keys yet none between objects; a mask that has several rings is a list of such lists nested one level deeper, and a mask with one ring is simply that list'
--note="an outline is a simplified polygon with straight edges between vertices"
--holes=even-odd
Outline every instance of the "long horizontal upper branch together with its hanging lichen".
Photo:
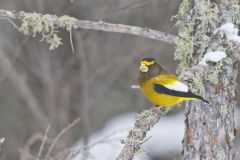
[{"label": "long horizontal upper branch together with its hanging lichen", "polygon": [[[142,28],[138,26],[129,26],[123,24],[113,24],[103,21],[94,22],[88,20],[79,20],[70,16],[61,16],[39,13],[14,12],[0,9],[0,19],[8,20],[15,28],[23,34],[42,35],[42,40],[50,44],[50,50],[57,48],[62,44],[61,37],[58,36],[58,29],[65,28],[70,33],[72,29],[82,28],[89,30],[99,30],[105,32],[117,32],[124,34],[137,35],[149,39],[176,44],[177,37],[165,32]],[[18,27],[12,20],[19,20],[21,26]]]}]

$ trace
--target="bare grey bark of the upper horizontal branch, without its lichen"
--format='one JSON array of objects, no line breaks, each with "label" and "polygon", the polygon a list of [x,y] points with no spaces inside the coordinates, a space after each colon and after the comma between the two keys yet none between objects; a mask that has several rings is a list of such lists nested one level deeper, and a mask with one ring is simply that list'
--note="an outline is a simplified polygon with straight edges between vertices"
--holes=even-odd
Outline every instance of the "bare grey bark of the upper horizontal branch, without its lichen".
[{"label": "bare grey bark of the upper horizontal branch, without its lichen", "polygon": [[[7,10],[0,9],[0,18],[1,19],[23,20],[24,17],[29,14],[31,14],[31,13],[27,13],[27,12],[23,12],[23,11],[21,11],[21,12],[7,11]],[[54,22],[57,22],[58,19],[60,18],[55,15],[48,15],[48,16],[51,16],[51,18],[52,18],[51,21],[54,21]],[[142,28],[142,27],[138,27],[138,26],[113,24],[113,23],[107,23],[107,22],[102,22],[102,21],[93,22],[93,21],[88,21],[88,20],[76,19],[76,28],[137,35],[140,37],[163,41],[163,42],[167,42],[170,44],[176,44],[176,41],[177,41],[177,37],[175,35],[171,35],[169,33],[156,31],[156,30],[149,29],[149,28]]]}]

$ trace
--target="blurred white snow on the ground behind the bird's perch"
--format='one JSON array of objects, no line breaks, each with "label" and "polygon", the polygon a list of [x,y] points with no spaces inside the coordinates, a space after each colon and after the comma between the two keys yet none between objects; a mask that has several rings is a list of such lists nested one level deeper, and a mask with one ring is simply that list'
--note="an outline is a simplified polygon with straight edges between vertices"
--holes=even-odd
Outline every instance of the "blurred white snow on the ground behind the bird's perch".
[{"label": "blurred white snow on the ground behind the bird's perch", "polygon": [[[90,157],[86,160],[113,160],[121,151],[123,145],[121,140],[123,140],[128,131],[134,125],[134,117],[136,113],[128,113],[117,116],[109,120],[105,127],[90,135],[89,144],[94,144],[99,142],[104,137],[106,138],[106,143],[99,143],[94,145],[89,149]],[[172,116],[163,117],[148,133],[147,137],[151,137],[146,143],[144,143],[143,148],[147,151],[147,154],[151,156],[169,156],[169,154],[176,155],[181,152],[181,141],[184,134],[184,115],[183,113],[178,113]],[[83,145],[83,140],[76,143],[74,148]],[[157,147],[156,147],[157,146]],[[73,160],[81,160],[82,154],[76,156]],[[144,160],[148,159],[147,155],[138,156],[134,160]],[[85,160],[85,159],[84,159]]]}]

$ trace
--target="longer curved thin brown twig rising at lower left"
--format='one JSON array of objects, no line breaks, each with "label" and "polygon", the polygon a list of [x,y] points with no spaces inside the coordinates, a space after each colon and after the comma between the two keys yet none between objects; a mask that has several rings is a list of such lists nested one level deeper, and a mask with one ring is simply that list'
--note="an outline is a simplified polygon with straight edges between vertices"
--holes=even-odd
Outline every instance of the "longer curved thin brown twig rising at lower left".
[{"label": "longer curved thin brown twig rising at lower left", "polygon": [[53,150],[53,148],[55,147],[55,145],[57,144],[58,140],[61,138],[61,136],[67,132],[70,128],[72,128],[73,126],[75,126],[77,123],[80,122],[80,118],[74,120],[71,124],[69,124],[66,128],[64,128],[63,130],[61,130],[61,132],[57,135],[57,137],[53,140],[52,145],[49,147],[48,152],[45,156],[45,160],[47,160]]}]

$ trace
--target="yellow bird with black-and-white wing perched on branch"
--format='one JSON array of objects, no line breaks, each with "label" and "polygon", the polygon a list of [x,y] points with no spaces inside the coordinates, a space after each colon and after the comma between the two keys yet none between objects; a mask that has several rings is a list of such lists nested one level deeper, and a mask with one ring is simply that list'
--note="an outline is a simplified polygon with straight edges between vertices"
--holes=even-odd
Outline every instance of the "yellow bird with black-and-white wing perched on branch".
[{"label": "yellow bird with black-and-white wing perched on branch", "polygon": [[138,85],[145,97],[155,106],[172,107],[185,100],[202,100],[173,73],[162,68],[154,58],[140,61]]}]

